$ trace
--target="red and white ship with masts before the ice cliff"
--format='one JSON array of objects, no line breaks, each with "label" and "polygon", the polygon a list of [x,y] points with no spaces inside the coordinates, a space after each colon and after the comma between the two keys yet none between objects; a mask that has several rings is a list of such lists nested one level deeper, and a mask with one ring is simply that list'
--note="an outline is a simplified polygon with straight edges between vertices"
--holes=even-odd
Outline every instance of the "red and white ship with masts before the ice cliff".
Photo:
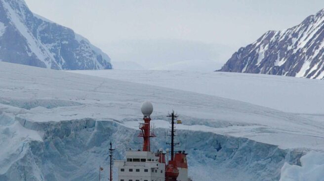
[{"label": "red and white ship with masts before the ice cliff", "polygon": [[[151,114],[153,105],[149,101],[142,103],[141,111],[143,122],[140,123],[139,137],[143,137],[142,150],[126,151],[126,160],[116,160],[114,165],[118,168],[118,181],[192,181],[188,177],[187,153],[174,151],[175,123],[181,123],[172,111],[167,117],[171,121],[171,151],[162,149],[151,151],[150,139],[156,137],[151,128]],[[170,160],[168,160],[170,154]]]}]

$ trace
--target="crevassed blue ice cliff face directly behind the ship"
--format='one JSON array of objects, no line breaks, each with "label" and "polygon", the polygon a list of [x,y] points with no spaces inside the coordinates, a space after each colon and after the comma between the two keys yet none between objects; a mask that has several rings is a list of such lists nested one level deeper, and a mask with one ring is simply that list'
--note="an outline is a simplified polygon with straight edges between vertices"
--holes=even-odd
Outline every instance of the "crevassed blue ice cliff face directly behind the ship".
[{"label": "crevassed blue ice cliff face directly behind the ship", "polygon": [[[2,117],[1,122],[8,118]],[[19,135],[14,133],[17,127],[21,130]],[[152,150],[167,148],[165,131],[164,128],[155,130],[157,137],[152,140]],[[99,165],[105,170],[109,168],[110,142],[116,147],[117,160],[124,159],[129,148],[140,149],[142,142],[137,137],[137,129],[116,121],[92,119],[59,122],[16,119],[10,125],[1,126],[0,132],[0,152],[5,153],[0,157],[5,160],[0,164],[1,181],[95,181]],[[204,181],[214,181],[214,178],[278,181],[283,164],[296,165],[302,156],[300,151],[281,150],[245,138],[191,130],[178,130],[177,135],[181,143],[177,150],[188,153],[189,175]],[[10,152],[4,150],[8,141],[16,145]],[[103,178],[107,177],[108,173],[103,172]],[[116,169],[114,177],[117,178]]]}]

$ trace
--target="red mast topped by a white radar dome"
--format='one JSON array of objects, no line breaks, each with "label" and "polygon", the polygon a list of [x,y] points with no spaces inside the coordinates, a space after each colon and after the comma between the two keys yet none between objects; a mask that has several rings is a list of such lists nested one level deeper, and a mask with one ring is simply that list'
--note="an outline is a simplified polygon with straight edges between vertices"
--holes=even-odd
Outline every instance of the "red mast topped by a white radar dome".
[{"label": "red mast topped by a white radar dome", "polygon": [[151,114],[153,112],[153,105],[149,101],[145,101],[142,104],[141,111],[144,115],[143,120],[144,123],[141,123],[140,129],[142,130],[142,133],[140,133],[138,136],[143,137],[144,142],[143,142],[143,151],[151,151],[151,146],[150,146],[150,138],[155,137],[154,133],[150,131],[151,129]]}]

